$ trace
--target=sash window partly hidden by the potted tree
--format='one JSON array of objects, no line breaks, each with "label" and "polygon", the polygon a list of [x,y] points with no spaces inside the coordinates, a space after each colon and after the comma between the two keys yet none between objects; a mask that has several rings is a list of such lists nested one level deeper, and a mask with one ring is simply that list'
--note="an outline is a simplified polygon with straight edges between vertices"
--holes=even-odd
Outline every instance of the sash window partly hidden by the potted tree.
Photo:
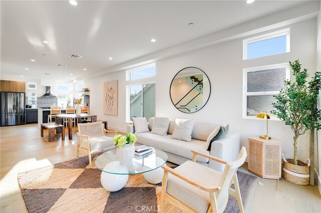
[{"label": "sash window partly hidden by the potted tree", "polygon": [[273,95],[284,88],[289,70],[288,63],[243,69],[243,118],[256,118],[263,111],[272,116]]}]

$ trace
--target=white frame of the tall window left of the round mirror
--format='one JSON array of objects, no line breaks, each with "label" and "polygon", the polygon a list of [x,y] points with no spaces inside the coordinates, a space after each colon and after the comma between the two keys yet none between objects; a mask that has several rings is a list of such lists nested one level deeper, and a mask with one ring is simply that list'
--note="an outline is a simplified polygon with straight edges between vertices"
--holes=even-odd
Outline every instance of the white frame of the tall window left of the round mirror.
[{"label": "white frame of the tall window left of the round mirror", "polygon": [[[130,80],[130,71],[134,71],[134,70],[139,70],[142,68],[147,68],[147,67],[155,67],[155,75],[152,76],[148,76],[148,77],[143,77],[143,78],[138,78],[138,79],[133,79]],[[155,63],[150,63],[147,65],[143,65],[143,66],[137,66],[135,68],[131,68],[131,69],[127,69],[126,70],[126,122],[131,123],[131,117],[130,117],[130,86],[136,86],[136,85],[141,85],[142,90],[143,90],[143,86],[144,85],[148,85],[148,84],[155,84],[156,86],[156,64]],[[156,95],[156,94],[155,94]],[[143,94],[141,97],[141,114],[143,116]]]}]

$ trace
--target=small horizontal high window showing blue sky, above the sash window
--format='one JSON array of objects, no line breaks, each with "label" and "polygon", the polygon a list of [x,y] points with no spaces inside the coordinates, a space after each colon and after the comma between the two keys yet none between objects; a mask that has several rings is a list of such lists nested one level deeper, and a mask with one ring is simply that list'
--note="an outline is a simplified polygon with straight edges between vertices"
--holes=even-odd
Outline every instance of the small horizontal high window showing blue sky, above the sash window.
[{"label": "small horizontal high window showing blue sky, above the sash window", "polygon": [[290,28],[243,40],[243,60],[290,51]]}]

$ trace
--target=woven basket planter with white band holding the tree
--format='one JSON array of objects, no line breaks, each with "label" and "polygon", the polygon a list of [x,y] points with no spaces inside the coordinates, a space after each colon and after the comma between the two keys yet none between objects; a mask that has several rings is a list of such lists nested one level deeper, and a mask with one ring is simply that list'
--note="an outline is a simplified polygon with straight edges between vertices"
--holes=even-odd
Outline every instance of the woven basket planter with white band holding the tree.
[{"label": "woven basket planter with white band holding the tree", "polygon": [[283,178],[295,184],[308,185],[310,181],[310,167],[300,160],[297,160],[297,165],[293,164],[293,159],[286,160],[283,162]]}]

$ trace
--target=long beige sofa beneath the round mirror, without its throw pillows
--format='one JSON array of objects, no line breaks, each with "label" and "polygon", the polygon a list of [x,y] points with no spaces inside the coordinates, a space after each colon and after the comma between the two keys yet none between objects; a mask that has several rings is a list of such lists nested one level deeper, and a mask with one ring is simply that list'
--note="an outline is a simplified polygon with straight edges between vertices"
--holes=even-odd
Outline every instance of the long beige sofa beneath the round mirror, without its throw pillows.
[{"label": "long beige sofa beneath the round mirror, without its throw pillows", "polygon": [[[153,118],[148,119],[148,128],[152,129]],[[170,120],[168,134],[166,136],[154,134],[151,132],[135,133],[137,143],[162,149],[168,154],[168,161],[182,164],[193,157],[191,150],[197,150],[202,153],[210,154],[222,158],[226,161],[235,160],[241,149],[241,139],[239,133],[228,133],[224,138],[215,140],[211,144],[211,150],[206,150],[206,140],[217,124],[195,122],[190,142],[173,139],[172,133],[175,126],[175,120]],[[127,133],[134,132],[133,124],[127,126]],[[200,164],[214,168],[218,171],[224,170],[224,164],[210,160],[197,155],[196,161]]]}]

